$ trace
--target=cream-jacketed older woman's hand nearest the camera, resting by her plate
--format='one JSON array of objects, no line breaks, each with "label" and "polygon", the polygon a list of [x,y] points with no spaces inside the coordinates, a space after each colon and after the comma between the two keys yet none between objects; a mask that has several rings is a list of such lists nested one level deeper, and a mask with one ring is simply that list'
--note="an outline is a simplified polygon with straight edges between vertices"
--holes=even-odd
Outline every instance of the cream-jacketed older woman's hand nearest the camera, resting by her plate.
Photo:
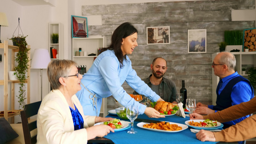
[{"label": "cream-jacketed older woman's hand nearest the camera, resting by her plate", "polygon": [[94,139],[95,137],[103,137],[108,133],[114,132],[114,130],[105,124],[100,124],[96,126],[92,126],[86,129],[87,131],[87,140]]}]

